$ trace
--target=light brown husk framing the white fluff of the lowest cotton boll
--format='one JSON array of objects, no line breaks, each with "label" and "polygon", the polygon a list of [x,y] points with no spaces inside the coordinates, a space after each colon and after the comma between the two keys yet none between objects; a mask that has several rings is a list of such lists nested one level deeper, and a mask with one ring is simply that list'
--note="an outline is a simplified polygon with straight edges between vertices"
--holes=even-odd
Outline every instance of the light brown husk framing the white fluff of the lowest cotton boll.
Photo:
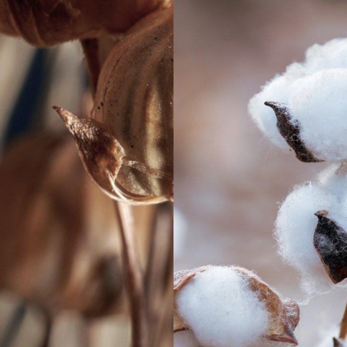
[{"label": "light brown husk framing the white fluff of the lowest cotton boll", "polygon": [[[189,283],[197,272],[209,269],[211,269],[211,266],[175,272],[174,293]],[[291,299],[281,300],[278,294],[253,272],[239,267],[230,267],[230,269],[247,278],[251,290],[256,292],[259,300],[265,303],[265,308],[269,312],[269,323],[264,337],[271,341],[288,342],[297,345],[293,330],[299,323],[299,306]],[[176,305],[174,305],[174,332],[187,329],[189,327],[180,316]]]}]

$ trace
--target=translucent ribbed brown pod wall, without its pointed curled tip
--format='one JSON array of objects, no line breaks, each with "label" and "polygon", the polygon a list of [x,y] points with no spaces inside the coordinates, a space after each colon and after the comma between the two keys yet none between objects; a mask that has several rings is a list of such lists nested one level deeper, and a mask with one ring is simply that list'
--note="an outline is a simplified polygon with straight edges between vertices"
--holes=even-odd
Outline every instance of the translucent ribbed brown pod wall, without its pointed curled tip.
[{"label": "translucent ribbed brown pod wall, without its pointed curled tip", "polygon": [[101,70],[92,117],[116,137],[128,160],[116,184],[125,194],[173,197],[173,6],[140,20]]}]

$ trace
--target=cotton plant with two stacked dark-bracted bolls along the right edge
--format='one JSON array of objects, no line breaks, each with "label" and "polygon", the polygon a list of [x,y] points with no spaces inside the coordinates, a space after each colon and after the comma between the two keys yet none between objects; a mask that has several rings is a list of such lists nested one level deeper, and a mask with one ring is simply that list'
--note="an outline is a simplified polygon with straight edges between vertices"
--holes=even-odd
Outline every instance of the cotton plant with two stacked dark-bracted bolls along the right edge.
[{"label": "cotton plant with two stacked dark-bracted bolls along the right edge", "polygon": [[[275,222],[285,263],[301,274],[312,295],[347,287],[347,39],[308,48],[249,102],[259,129],[303,162],[328,163],[317,177],[293,188]],[[340,332],[322,346],[347,346],[347,314]]]}]

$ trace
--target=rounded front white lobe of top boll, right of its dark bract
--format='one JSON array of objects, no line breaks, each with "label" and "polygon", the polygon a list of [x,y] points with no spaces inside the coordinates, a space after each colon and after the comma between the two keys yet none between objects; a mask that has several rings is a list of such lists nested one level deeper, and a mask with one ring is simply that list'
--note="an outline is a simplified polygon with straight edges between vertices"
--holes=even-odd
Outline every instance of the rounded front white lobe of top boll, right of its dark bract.
[{"label": "rounded front white lobe of top boll, right of its dark bract", "polygon": [[308,150],[323,160],[346,158],[347,68],[299,78],[290,86],[289,95],[290,114]]}]

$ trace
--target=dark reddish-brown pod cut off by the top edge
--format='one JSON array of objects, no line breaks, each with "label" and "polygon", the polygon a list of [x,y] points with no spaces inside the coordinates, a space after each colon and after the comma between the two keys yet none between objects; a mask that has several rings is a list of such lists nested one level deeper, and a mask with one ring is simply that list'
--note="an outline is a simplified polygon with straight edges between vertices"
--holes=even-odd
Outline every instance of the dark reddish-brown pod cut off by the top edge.
[{"label": "dark reddish-brown pod cut off by the top edge", "polygon": [[124,32],[167,0],[3,0],[0,30],[37,47]]}]

